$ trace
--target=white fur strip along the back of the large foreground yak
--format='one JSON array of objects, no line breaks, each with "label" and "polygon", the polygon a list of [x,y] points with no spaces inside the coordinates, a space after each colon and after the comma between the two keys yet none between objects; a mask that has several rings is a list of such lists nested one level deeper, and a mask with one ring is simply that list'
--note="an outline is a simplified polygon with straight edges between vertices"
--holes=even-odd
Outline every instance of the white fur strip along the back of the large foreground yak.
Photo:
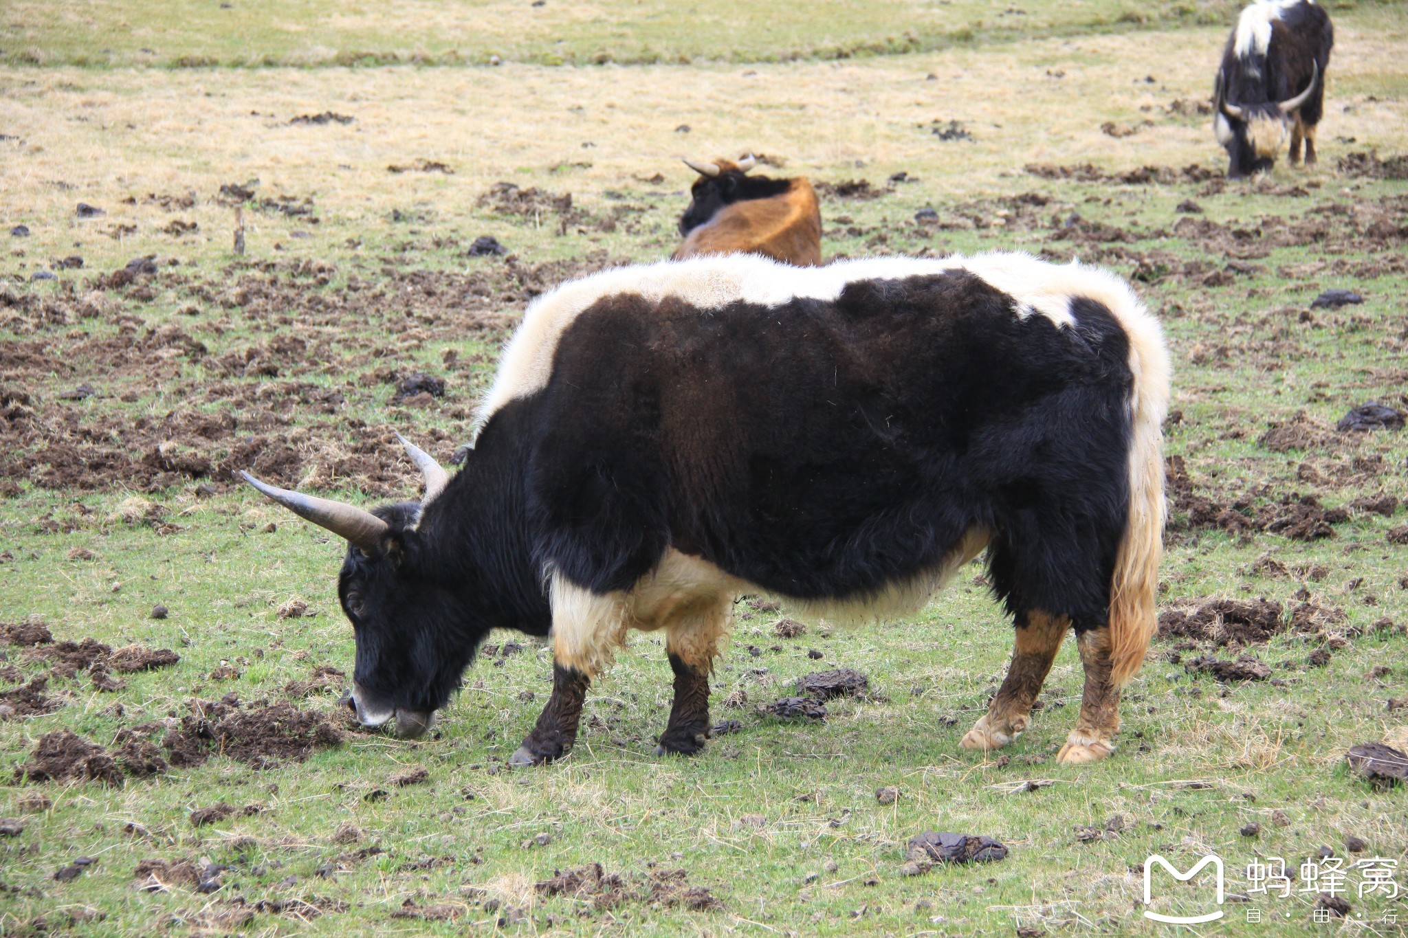
[{"label": "white fur strip along the back of the large foreground yak", "polygon": [[1129,335],[1136,387],[1142,385],[1140,373],[1149,373],[1150,387],[1167,388],[1167,352],[1157,322],[1124,280],[1098,267],[1079,262],[1050,264],[1031,255],[1001,252],[976,257],[869,257],[825,267],[793,267],[756,255],[725,255],[617,267],[539,297],[528,307],[498,361],[494,385],[479,408],[476,433],[510,401],[546,387],[562,333],[605,297],[635,294],[652,302],[676,297],[703,311],[732,302],[777,307],[797,298],[835,300],[846,284],[862,280],[903,280],[960,269],[1012,297],[1017,315],[1022,318],[1039,314],[1069,328],[1074,325],[1071,298],[1101,302]]}]

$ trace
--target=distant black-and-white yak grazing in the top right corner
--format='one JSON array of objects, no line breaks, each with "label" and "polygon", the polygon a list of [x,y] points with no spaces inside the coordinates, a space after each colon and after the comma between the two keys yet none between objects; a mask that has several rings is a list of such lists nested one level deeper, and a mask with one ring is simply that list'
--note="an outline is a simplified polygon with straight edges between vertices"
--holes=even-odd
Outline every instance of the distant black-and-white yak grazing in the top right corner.
[{"label": "distant black-and-white yak grazing in the top right corner", "polygon": [[1325,110],[1325,69],[1335,45],[1329,15],[1314,0],[1259,0],[1242,10],[1212,90],[1212,129],[1231,162],[1228,177],[1271,169],[1291,136],[1291,165],[1315,165],[1315,125]]}]

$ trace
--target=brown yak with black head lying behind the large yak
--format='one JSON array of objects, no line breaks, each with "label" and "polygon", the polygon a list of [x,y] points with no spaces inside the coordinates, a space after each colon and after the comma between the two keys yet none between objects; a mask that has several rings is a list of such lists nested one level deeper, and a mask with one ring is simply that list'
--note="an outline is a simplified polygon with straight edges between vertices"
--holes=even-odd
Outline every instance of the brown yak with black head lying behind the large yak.
[{"label": "brown yak with black head lying behind the large yak", "polygon": [[749,176],[755,158],[736,163],[684,160],[700,177],[680,217],[684,243],[674,260],[698,255],[762,255],[798,267],[821,263],[821,210],[805,179]]}]

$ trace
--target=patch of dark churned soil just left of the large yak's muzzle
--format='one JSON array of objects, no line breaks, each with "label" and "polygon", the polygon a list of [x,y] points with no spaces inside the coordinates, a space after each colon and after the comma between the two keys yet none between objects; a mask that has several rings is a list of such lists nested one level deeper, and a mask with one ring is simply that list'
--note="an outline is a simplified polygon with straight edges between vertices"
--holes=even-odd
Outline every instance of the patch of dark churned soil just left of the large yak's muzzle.
[{"label": "patch of dark churned soil just left of the large yak's muzzle", "polygon": [[191,710],[163,740],[168,758],[180,768],[227,755],[268,769],[283,761],[303,762],[315,748],[337,747],[345,738],[322,713],[287,703],[246,710],[227,695],[222,700],[196,700]]}]

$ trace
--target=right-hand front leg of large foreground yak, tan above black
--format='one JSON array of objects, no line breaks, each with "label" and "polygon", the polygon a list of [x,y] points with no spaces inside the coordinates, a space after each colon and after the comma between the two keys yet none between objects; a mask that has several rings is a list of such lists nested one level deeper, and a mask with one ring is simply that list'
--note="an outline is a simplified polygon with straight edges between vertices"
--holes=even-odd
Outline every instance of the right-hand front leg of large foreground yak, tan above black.
[{"label": "right-hand front leg of large foreground yak, tan above black", "polygon": [[718,643],[728,631],[732,596],[696,605],[669,626],[665,648],[674,671],[674,703],[670,721],[660,734],[656,755],[693,755],[708,738],[708,675],[714,669]]}]

